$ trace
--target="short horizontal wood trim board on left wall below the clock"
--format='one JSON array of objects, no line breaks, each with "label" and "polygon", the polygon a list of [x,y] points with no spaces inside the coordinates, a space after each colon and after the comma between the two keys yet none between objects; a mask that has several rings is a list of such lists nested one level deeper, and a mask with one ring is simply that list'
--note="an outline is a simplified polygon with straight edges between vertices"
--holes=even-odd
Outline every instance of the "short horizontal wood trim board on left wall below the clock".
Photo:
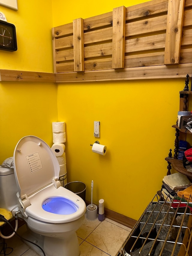
[{"label": "short horizontal wood trim board on left wall below the clock", "polygon": [[0,81],[55,83],[53,73],[0,69]]}]

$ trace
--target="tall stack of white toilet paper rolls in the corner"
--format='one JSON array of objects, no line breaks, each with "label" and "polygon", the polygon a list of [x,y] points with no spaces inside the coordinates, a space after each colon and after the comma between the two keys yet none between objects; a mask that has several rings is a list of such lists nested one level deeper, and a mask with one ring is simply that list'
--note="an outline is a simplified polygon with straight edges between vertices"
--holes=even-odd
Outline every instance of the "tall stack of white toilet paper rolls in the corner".
[{"label": "tall stack of white toilet paper rolls in the corner", "polygon": [[67,184],[66,156],[64,152],[64,142],[66,142],[65,122],[52,122],[52,132],[53,145],[51,149],[58,160],[60,166],[59,181],[64,187]]}]

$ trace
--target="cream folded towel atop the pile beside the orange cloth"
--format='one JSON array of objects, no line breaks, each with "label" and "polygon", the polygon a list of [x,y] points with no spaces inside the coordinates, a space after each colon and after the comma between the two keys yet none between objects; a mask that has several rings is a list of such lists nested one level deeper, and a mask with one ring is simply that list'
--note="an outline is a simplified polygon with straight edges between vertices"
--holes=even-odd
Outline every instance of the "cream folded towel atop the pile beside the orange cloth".
[{"label": "cream folded towel atop the pile beside the orange cloth", "polygon": [[192,185],[187,176],[182,173],[173,173],[171,175],[164,176],[163,182],[175,192],[183,190]]}]

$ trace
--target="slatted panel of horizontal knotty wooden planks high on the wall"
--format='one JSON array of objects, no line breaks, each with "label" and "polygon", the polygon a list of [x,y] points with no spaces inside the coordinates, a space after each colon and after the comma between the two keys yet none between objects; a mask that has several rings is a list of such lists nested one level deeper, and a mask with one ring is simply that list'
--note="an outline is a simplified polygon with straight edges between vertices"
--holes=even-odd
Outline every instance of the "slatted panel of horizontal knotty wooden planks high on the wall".
[{"label": "slatted panel of horizontal knotty wooden planks high on the wall", "polygon": [[[192,0],[174,0],[178,3],[179,11],[170,20],[167,12],[173,13],[173,6],[170,5],[172,1],[152,0],[123,9],[122,13],[125,12],[126,16],[120,33],[123,35],[125,29],[125,42],[122,41],[119,53],[114,18],[122,21],[122,13],[118,11],[116,16],[113,15],[114,10],[119,8],[84,19],[84,58],[81,57],[84,71],[160,66],[164,65],[165,59],[166,65],[173,64],[173,58],[165,56],[165,48],[167,50],[168,47],[167,52],[170,54],[171,49],[172,56],[174,50],[177,52],[174,55],[175,64],[192,63]],[[179,28],[177,37],[170,37],[171,43],[166,43],[169,39],[166,33],[172,29],[167,21],[173,23],[174,28]],[[53,28],[55,73],[75,72],[73,33],[73,23]],[[118,54],[121,56],[120,64],[114,62],[114,56]]]}]

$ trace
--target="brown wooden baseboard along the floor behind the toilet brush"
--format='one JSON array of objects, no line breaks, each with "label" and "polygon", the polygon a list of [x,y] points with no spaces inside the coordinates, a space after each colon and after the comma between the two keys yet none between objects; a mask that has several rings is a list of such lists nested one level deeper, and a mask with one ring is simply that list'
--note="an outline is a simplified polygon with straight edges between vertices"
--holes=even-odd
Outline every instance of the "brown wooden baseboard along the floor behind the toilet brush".
[{"label": "brown wooden baseboard along the floor behind the toilet brush", "polygon": [[[86,203],[86,206],[88,206],[89,204],[91,204],[91,202],[85,200],[85,203]],[[95,204],[95,203],[94,203]],[[95,204],[97,205],[97,204]],[[99,210],[99,206],[97,205],[98,207],[98,210]],[[104,213],[105,213],[105,217],[106,218],[109,218],[113,221],[116,221],[126,227],[130,227],[130,228],[133,228],[134,225],[136,224],[136,220],[132,219],[132,218],[129,218],[121,213],[118,213],[118,212],[114,212],[110,209],[107,209],[107,208],[104,208]]]}]

